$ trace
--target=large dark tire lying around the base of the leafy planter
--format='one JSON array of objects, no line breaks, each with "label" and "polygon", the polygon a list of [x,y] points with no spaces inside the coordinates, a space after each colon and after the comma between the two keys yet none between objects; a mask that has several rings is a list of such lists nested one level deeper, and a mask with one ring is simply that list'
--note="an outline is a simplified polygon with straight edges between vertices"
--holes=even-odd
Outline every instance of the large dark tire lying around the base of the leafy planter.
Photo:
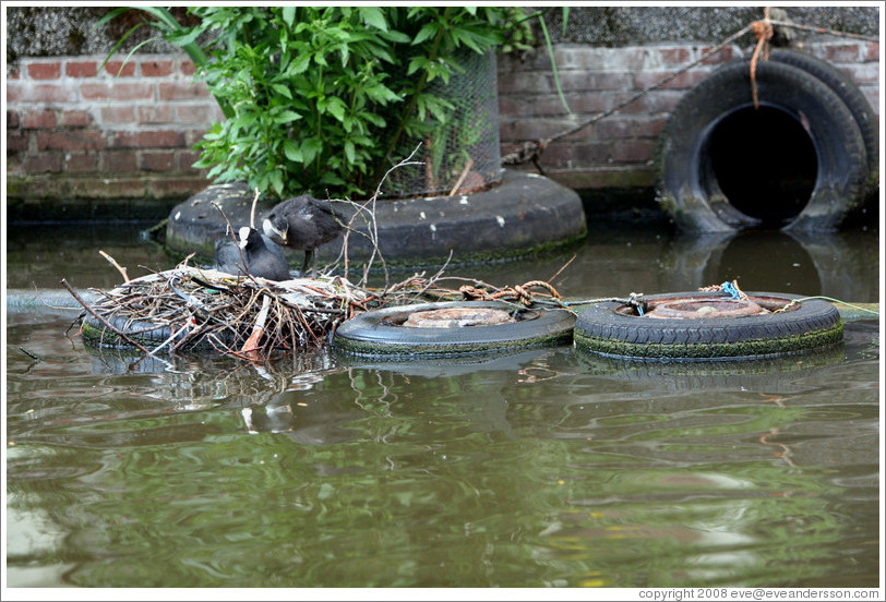
[{"label": "large dark tire lying around the base of the leafy planter", "polygon": [[[225,234],[225,219],[235,227],[249,224],[252,194],[244,184],[213,185],[177,205],[166,229],[167,248],[175,254],[197,253],[208,261],[215,241]],[[333,201],[346,224],[356,209]],[[260,201],[256,224],[273,203]],[[529,256],[584,239],[585,212],[578,194],[548,178],[505,170],[494,188],[476,194],[378,201],[375,205],[379,249],[392,265],[439,265],[453,252],[453,263]],[[358,232],[368,232],[367,219],[352,221],[357,232],[348,240],[348,258],[363,263],[372,244]],[[343,241],[319,252],[321,262],[334,261]],[[288,251],[290,265],[300,265],[300,253]],[[378,262],[378,260],[376,260]],[[374,264],[376,267],[379,263]]]}]

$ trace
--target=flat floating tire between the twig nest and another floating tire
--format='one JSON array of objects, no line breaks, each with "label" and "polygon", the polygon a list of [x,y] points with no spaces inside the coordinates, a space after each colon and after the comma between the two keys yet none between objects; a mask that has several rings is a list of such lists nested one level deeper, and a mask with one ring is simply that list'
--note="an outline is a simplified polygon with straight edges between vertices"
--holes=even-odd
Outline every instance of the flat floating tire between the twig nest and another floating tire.
[{"label": "flat floating tire between the twig nest and another floating tire", "polygon": [[364,357],[452,357],[565,345],[572,341],[575,315],[566,310],[517,310],[518,321],[494,326],[416,328],[400,326],[416,311],[446,308],[492,308],[514,311],[499,301],[454,301],[384,308],[342,324],[336,349]]}]

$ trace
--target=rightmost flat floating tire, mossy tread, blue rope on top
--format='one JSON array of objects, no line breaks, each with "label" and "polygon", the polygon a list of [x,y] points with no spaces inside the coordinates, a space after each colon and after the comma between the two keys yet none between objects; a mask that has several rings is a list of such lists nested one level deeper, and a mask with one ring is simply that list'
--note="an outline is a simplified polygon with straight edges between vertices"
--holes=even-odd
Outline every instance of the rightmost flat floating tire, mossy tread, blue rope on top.
[{"label": "rightmost flat floating tire, mossy tread, blue rope on top", "polygon": [[[749,292],[751,297],[800,299],[795,294]],[[720,297],[674,292],[646,300]],[[619,358],[722,360],[761,358],[822,349],[842,341],[843,324],[834,305],[811,299],[782,313],[721,318],[655,318],[624,315],[623,303],[609,301],[578,313],[575,346]]]}]

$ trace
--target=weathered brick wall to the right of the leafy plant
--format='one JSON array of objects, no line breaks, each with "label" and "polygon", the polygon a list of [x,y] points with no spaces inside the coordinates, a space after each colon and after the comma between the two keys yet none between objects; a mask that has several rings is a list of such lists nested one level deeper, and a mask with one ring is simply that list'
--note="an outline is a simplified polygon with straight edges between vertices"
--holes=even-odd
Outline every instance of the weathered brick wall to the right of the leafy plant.
[{"label": "weathered brick wall to the right of the leafy plant", "polygon": [[[500,57],[502,155],[524,141],[553,136],[618,106],[695,61],[708,48],[690,44],[556,46],[560,83],[574,117],[568,116],[556,94],[547,52],[539,51],[526,62]],[[879,115],[879,44],[806,43],[804,49],[846,73]],[[669,111],[718,64],[741,56],[738,46],[723,48],[618,113],[553,142],[543,150],[539,165],[547,176],[576,190],[654,185],[652,157]],[[518,168],[536,169],[531,162]]]}]

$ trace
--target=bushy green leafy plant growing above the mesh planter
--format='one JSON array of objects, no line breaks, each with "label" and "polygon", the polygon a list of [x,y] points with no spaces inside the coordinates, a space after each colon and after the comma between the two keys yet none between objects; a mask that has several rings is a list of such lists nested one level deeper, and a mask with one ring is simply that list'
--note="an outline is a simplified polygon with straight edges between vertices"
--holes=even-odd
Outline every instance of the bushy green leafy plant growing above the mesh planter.
[{"label": "bushy green leafy plant growing above the mesh planter", "polygon": [[225,110],[195,167],[279,197],[366,196],[405,145],[452,118],[429,84],[459,70],[456,52],[525,35],[526,19],[505,7],[199,7],[188,28],[142,10]]}]

